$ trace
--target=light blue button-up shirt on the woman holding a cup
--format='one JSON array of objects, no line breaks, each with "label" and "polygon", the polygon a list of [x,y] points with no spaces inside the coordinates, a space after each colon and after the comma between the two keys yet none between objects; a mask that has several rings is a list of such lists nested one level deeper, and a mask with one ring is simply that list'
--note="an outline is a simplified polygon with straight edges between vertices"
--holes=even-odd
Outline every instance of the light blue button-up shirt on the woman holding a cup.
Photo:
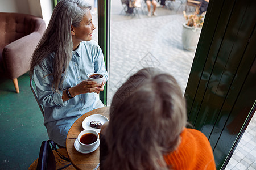
[{"label": "light blue button-up shirt on the woman holding a cup", "polygon": [[[52,91],[53,76],[52,63],[54,54],[50,54],[34,69],[34,82],[40,104],[44,108],[44,125],[49,138],[61,146],[65,146],[68,130],[82,114],[95,109],[98,101],[96,93],[77,95],[67,101],[62,100],[62,93]],[[88,79],[89,73],[104,74],[108,80],[105,69],[104,56],[100,46],[95,41],[83,41],[73,52],[68,65],[68,74],[63,82],[63,89],[73,87]]]}]

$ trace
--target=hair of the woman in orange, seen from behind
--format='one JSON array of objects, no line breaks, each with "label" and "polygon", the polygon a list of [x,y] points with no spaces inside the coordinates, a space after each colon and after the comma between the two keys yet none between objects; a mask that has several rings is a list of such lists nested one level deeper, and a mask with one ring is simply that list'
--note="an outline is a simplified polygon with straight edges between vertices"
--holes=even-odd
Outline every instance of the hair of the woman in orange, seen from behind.
[{"label": "hair of the woman in orange, seen from behind", "polygon": [[163,155],[177,147],[187,120],[175,78],[159,69],[142,69],[118,89],[111,108],[102,168],[170,168]]}]

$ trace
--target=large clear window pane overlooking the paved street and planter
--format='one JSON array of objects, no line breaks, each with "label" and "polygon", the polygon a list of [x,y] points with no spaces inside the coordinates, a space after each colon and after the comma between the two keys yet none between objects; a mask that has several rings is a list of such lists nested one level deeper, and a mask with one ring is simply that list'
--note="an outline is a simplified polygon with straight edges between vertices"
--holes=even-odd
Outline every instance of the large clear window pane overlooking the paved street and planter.
[{"label": "large clear window pane overlooking the paved street and planter", "polygon": [[111,1],[110,101],[121,84],[143,67],[167,71],[185,91],[208,2],[154,2],[155,11],[151,4],[149,12],[144,0]]}]

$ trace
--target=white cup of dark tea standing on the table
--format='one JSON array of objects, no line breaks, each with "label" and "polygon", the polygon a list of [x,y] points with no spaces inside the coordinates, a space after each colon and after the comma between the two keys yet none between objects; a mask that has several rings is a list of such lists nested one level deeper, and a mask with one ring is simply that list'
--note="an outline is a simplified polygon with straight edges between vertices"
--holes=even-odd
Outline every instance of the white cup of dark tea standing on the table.
[{"label": "white cup of dark tea standing on the table", "polygon": [[81,131],[77,139],[84,150],[92,150],[100,142],[97,131],[90,129]]}]

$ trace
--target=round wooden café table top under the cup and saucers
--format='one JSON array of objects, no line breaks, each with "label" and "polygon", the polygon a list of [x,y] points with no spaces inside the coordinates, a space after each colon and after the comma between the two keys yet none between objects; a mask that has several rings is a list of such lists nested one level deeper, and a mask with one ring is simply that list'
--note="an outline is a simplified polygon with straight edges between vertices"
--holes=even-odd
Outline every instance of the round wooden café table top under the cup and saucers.
[{"label": "round wooden caf\u00e9 table top under the cup and saucers", "polygon": [[98,163],[100,163],[100,147],[97,148],[96,151],[89,153],[89,154],[81,154],[80,152],[76,151],[74,147],[74,142],[78,137],[79,133],[84,130],[82,128],[82,121],[92,114],[101,114],[109,119],[109,108],[98,108],[85,113],[82,115],[72,126],[71,129],[68,131],[67,139],[66,139],[66,147],[68,152],[68,157],[71,160],[72,165],[76,169],[94,169]]}]

